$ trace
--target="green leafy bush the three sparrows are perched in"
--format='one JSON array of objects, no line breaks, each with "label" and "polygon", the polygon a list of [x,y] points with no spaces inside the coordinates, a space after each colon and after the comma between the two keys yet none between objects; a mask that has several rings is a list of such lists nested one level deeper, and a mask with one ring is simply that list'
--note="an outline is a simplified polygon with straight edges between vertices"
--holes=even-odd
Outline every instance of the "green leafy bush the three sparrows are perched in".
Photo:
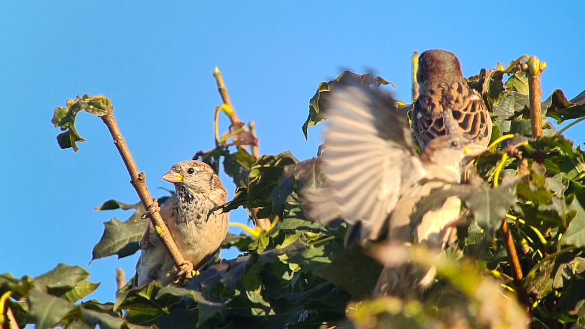
[{"label": "green leafy bush the three sparrows are perched in", "polygon": [[[238,248],[242,255],[209,266],[184,287],[150,283],[130,289],[122,284],[113,303],[81,301],[98,284],[87,281],[89,273],[78,266],[59,264],[43,275],[20,279],[5,273],[0,275],[0,324],[521,328],[531,318],[534,328],[585,325],[585,160],[583,152],[546,120],[560,125],[583,119],[585,105],[555,90],[541,104],[543,137],[532,139],[532,73],[526,71],[526,61],[517,61],[469,78],[491,112],[492,140],[508,134],[514,138],[501,139],[494,152],[477,160],[480,176],[500,187],[483,189],[466,201],[475,220],[457,228],[457,242],[438,259],[422,246],[409,251],[345,249],[345,225],[329,228],[307,220],[299,193],[322,180],[318,160],[300,162],[288,151],[260,156],[253,124],[246,128],[239,121],[227,91],[220,88],[225,104],[215,109],[216,120],[224,112],[232,125],[222,136],[216,129],[216,148],[196,157],[224,170],[238,187],[223,210],[244,207],[258,224],[249,229],[250,235],[230,234],[223,242],[222,248]],[[369,74],[357,77],[365,84],[388,84]],[[216,78],[222,87],[218,70]],[[302,126],[305,136],[309,126],[322,121],[324,100],[338,81],[319,84]],[[74,125],[78,112],[102,116],[113,109],[103,96],[84,95],[66,105],[56,108],[53,117],[53,124],[64,131],[57,137],[61,148],[77,149],[77,142],[83,141]],[[409,107],[401,103],[405,112]],[[132,214],[126,221],[105,223],[92,260],[133,255],[139,248],[147,221],[143,205],[109,200],[99,210],[115,208]],[[423,300],[371,300],[381,270],[374,258],[407,252],[412,262],[436,266],[438,282]]]}]

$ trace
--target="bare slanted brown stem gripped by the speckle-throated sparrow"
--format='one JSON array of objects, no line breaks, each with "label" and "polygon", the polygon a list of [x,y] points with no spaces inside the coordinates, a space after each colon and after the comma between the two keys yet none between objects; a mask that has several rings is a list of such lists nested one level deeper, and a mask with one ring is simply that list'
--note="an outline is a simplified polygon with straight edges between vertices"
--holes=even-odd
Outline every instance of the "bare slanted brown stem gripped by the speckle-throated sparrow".
[{"label": "bare slanted brown stem gripped by the speckle-throated sparrow", "polygon": [[[173,237],[171,237],[170,233],[168,232],[167,225],[164,223],[163,218],[160,217],[159,211],[157,207],[153,207],[154,201],[152,196],[150,195],[150,191],[146,186],[146,181],[144,181],[146,175],[144,173],[140,173],[138,171],[138,167],[136,166],[136,162],[134,161],[130,150],[128,149],[128,145],[126,145],[126,140],[124,140],[120,129],[118,128],[118,124],[116,123],[116,119],[114,118],[112,113],[106,114],[101,116],[102,121],[108,127],[109,132],[112,135],[113,143],[116,145],[118,152],[122,156],[122,160],[124,165],[126,165],[126,169],[128,169],[128,173],[130,174],[130,184],[136,190],[136,193],[140,197],[140,201],[142,201],[142,205],[144,205],[144,209],[148,211],[148,215],[150,217],[150,221],[154,225],[154,227],[158,227],[157,231],[160,234],[161,239],[163,239],[164,244],[167,246],[168,251],[173,256],[173,260],[177,268],[181,269],[184,266],[189,267],[189,262],[185,261],[183,255],[178,250],[177,245],[175,244]],[[191,264],[192,266],[192,264]],[[188,270],[187,279],[191,279],[191,270]]]}]

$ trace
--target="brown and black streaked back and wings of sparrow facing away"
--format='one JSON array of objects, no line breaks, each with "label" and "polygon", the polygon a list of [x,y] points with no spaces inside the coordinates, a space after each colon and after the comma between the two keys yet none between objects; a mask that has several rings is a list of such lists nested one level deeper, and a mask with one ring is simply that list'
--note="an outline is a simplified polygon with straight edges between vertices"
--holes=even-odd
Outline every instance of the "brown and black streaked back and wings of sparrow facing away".
[{"label": "brown and black streaked back and wings of sparrow facing away", "polygon": [[464,81],[422,91],[412,110],[412,128],[421,148],[443,135],[462,136],[481,145],[491,138],[486,105]]}]

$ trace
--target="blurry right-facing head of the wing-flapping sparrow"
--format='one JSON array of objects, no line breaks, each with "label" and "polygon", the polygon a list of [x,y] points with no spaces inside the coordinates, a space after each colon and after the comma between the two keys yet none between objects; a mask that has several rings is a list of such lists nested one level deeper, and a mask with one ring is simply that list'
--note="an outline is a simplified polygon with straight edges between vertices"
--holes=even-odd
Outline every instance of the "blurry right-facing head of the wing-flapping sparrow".
[{"label": "blurry right-facing head of the wing-flapping sparrow", "polygon": [[[441,136],[431,140],[421,153],[426,165],[444,168],[446,172],[460,177],[464,167],[477,156],[487,151],[486,146],[459,136]],[[441,173],[436,173],[443,176]]]}]

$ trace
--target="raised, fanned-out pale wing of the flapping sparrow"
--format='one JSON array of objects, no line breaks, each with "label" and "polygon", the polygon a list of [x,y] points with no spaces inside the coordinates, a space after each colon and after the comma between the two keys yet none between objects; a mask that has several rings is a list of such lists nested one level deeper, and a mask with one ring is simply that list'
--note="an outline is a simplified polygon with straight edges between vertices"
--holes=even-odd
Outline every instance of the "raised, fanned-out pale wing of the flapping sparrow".
[{"label": "raised, fanned-out pale wing of the flapping sparrow", "polygon": [[308,215],[322,224],[361,221],[377,238],[401,191],[424,176],[411,132],[394,100],[355,81],[332,91],[326,113],[322,171],[328,184],[305,189]]}]

